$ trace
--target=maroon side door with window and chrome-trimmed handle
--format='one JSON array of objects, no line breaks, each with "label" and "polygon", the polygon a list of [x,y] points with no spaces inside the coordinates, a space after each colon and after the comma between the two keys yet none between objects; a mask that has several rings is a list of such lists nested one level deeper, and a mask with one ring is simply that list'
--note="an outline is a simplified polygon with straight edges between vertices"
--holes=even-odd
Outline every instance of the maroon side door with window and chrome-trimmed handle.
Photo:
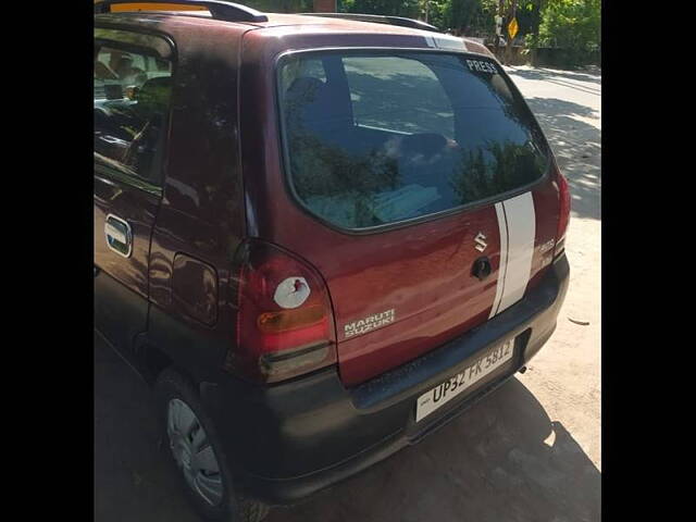
[{"label": "maroon side door with window and chrome-trimmed handle", "polygon": [[147,326],[171,75],[163,38],[95,30],[95,326],[126,353]]}]

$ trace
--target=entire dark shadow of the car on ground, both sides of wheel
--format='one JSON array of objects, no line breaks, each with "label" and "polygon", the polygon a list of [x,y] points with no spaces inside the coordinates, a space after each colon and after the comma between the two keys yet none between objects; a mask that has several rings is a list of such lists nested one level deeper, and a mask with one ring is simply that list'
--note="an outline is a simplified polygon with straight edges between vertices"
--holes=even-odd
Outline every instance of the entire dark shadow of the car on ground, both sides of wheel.
[{"label": "entire dark shadow of the car on ground, both sides of wheel", "polygon": [[[147,386],[95,339],[95,519],[199,519],[171,473]],[[600,472],[517,378],[456,421],[269,522],[598,521]]]}]

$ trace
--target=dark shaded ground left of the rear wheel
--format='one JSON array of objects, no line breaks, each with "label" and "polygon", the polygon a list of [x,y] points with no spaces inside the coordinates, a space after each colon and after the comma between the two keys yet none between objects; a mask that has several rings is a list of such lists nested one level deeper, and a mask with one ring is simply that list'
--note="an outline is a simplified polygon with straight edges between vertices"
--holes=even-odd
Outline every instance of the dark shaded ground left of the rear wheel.
[{"label": "dark shaded ground left of the rear wheel", "polygon": [[95,335],[95,520],[200,522],[159,445],[150,389]]}]

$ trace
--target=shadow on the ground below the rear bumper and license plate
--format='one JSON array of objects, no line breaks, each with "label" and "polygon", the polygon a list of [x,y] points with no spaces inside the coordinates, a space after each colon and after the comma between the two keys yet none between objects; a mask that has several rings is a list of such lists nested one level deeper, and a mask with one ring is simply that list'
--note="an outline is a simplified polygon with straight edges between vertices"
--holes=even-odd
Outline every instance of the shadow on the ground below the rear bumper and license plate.
[{"label": "shadow on the ground below the rear bumper and license plate", "polygon": [[269,522],[598,521],[600,472],[517,378],[421,444]]}]

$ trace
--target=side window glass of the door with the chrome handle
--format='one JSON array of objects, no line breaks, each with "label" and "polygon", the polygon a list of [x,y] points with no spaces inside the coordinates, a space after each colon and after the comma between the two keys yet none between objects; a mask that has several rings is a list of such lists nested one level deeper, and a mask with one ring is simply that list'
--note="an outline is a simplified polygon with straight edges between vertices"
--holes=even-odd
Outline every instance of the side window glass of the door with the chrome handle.
[{"label": "side window glass of the door with the chrome handle", "polygon": [[159,185],[172,94],[171,51],[162,38],[97,29],[95,163]]}]

